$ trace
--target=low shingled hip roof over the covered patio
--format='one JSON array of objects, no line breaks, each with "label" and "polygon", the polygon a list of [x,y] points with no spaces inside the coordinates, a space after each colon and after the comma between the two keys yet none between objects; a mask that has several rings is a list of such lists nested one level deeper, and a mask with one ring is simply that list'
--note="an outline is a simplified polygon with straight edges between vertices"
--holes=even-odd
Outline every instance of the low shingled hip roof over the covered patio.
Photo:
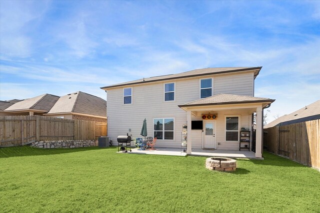
[{"label": "low shingled hip roof over the covered patio", "polygon": [[241,104],[241,103],[272,103],[274,100],[269,98],[258,98],[245,95],[218,94],[196,101],[191,101],[178,107],[221,105],[221,104]]}]

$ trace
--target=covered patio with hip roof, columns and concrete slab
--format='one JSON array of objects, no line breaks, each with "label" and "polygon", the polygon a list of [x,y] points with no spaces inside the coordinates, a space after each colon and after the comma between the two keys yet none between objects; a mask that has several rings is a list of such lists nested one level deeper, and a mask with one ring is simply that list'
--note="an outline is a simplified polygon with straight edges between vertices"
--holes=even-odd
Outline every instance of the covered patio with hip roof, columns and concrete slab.
[{"label": "covered patio with hip roof, columns and concrete slab", "polygon": [[[186,154],[235,158],[245,156],[261,159],[263,109],[269,107],[273,101],[269,98],[218,94],[178,105],[178,107],[186,111],[188,133]],[[247,140],[249,145],[241,147],[247,150],[240,151],[240,129],[247,129],[250,135],[252,134],[253,113],[256,113],[255,153],[250,151],[252,146],[251,137]],[[205,116],[203,118],[204,114],[211,114],[215,117],[211,120],[205,120]],[[196,141],[196,137],[194,137],[196,133],[190,125],[191,121],[194,120],[203,120],[202,134],[198,133],[198,138],[202,138],[202,145]],[[234,121],[232,122],[232,120]],[[199,145],[202,147],[199,147]],[[210,148],[210,150],[205,150],[205,148]]]}]

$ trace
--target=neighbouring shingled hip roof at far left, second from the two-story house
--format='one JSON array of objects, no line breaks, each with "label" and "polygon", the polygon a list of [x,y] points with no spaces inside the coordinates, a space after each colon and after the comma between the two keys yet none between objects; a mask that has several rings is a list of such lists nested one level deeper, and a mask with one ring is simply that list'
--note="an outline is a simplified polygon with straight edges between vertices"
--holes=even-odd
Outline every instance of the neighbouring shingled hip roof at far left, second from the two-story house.
[{"label": "neighbouring shingled hip roof at far left, second from the two-story house", "polygon": [[33,98],[19,101],[9,106],[4,112],[19,112],[19,111],[38,111],[48,112],[59,96],[51,94],[43,94]]}]

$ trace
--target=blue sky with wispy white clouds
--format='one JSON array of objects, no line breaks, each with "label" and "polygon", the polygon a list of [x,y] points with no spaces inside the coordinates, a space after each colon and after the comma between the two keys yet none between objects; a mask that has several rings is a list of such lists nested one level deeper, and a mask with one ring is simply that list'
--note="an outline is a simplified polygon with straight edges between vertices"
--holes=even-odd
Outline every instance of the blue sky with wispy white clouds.
[{"label": "blue sky with wispy white clouds", "polygon": [[320,99],[320,1],[0,0],[0,100],[262,66],[273,116]]}]

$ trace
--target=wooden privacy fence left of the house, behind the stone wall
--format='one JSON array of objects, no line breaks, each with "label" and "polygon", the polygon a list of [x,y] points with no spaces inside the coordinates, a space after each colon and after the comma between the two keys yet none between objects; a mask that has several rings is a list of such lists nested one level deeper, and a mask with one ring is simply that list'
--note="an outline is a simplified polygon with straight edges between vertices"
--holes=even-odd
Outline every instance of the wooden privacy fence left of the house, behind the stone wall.
[{"label": "wooden privacy fence left of the house, behind the stone wall", "polygon": [[107,124],[45,116],[0,116],[0,147],[34,141],[94,140],[106,136]]}]

